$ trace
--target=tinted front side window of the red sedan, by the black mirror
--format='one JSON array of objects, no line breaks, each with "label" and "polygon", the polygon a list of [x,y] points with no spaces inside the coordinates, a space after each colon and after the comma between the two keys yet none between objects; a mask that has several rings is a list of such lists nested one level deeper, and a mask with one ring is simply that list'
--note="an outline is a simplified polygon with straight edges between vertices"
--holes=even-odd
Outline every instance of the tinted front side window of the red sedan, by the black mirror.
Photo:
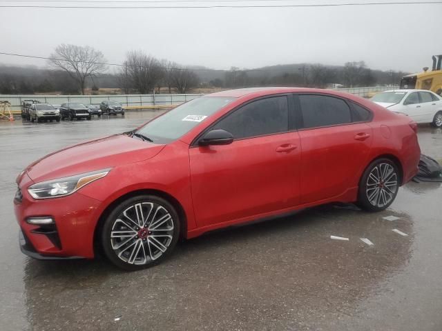
[{"label": "tinted front side window of the red sedan, by the black mirror", "polygon": [[213,129],[226,130],[233,134],[235,139],[287,132],[287,97],[271,97],[248,103],[216,123]]}]

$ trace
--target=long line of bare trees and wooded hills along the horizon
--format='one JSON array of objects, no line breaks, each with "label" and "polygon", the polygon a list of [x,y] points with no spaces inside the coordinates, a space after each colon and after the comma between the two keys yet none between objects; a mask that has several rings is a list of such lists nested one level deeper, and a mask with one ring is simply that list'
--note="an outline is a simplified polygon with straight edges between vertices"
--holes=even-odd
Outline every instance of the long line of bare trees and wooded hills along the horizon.
[{"label": "long line of bare trees and wooded hills along the horizon", "polygon": [[[61,92],[84,94],[86,88],[119,88],[124,94],[148,94],[160,88],[186,93],[193,88],[243,88],[251,86],[358,87],[393,85],[405,72],[371,70],[363,61],[344,66],[301,64],[254,70],[231,67],[226,72],[198,70],[166,59],[157,59],[140,50],[126,54],[117,70],[108,73],[104,54],[89,46],[61,44],[48,58],[45,70],[7,70],[0,66],[0,94]],[[33,76],[26,73],[32,72]],[[24,73],[24,74],[23,74]]]}]

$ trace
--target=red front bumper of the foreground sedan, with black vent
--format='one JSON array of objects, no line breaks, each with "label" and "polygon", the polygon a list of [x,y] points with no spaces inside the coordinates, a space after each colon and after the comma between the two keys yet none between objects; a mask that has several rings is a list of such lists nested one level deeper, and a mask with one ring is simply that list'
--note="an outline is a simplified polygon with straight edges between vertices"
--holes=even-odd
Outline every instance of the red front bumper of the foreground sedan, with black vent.
[{"label": "red front bumper of the foreground sedan, with black vent", "polygon": [[[35,200],[26,190],[32,181],[26,174],[23,177],[21,194],[14,200],[17,222],[24,243],[27,242],[21,245],[22,252],[37,259],[93,258],[93,236],[102,212],[101,201],[79,192],[66,197]],[[30,224],[26,221],[30,217],[52,217],[55,224],[49,229]]]}]

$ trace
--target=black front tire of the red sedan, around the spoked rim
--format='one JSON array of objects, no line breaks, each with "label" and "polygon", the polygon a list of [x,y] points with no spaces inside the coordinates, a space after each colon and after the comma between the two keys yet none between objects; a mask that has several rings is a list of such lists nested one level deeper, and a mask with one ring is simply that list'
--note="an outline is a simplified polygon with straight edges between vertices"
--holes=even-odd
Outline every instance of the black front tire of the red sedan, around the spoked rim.
[{"label": "black front tire of the red sedan, around the spoked rim", "polygon": [[[115,226],[122,224],[121,219],[124,219],[124,221],[127,222],[128,225],[131,225],[134,227],[134,229],[126,228],[126,232],[134,232],[134,231],[137,232],[137,231],[143,230],[143,228],[137,228],[136,226],[134,226],[134,223],[131,223],[130,221],[128,221],[128,219],[125,219],[124,217],[122,217],[122,213],[125,210],[128,210],[129,208],[131,208],[131,206],[137,205],[138,203],[145,203],[145,205],[149,205],[150,203],[153,203],[152,208],[155,208],[155,211],[157,211],[156,208],[159,208],[159,207],[164,208],[164,209],[161,209],[161,212],[163,212],[165,215],[167,213],[169,213],[171,219],[169,219],[168,223],[169,223],[169,225],[173,224],[173,229],[168,230],[169,232],[164,232],[164,231],[160,231],[160,230],[158,230],[158,232],[157,232],[157,230],[152,230],[152,232],[148,232],[149,237],[150,236],[155,237],[155,232],[156,232],[156,234],[162,234],[163,237],[164,237],[164,234],[169,234],[170,236],[172,236],[171,239],[166,239],[168,241],[170,240],[169,243],[164,245],[164,247],[166,247],[166,250],[164,250],[164,252],[161,251],[162,253],[160,253],[160,250],[158,250],[156,254],[160,253],[160,255],[157,255],[155,257],[155,259],[151,259],[151,257],[153,256],[153,253],[155,253],[155,245],[151,244],[152,241],[149,241],[149,239],[148,239],[149,237],[147,237],[147,239],[140,239],[139,236],[135,236],[135,238],[133,238],[133,239],[127,239],[128,245],[131,245],[131,242],[133,241],[134,242],[133,245],[135,245],[135,247],[136,247],[136,245],[140,245],[140,241],[141,241],[141,244],[143,245],[143,247],[140,247],[140,253],[138,251],[135,253],[136,254],[135,258],[137,258],[139,256],[138,254],[140,254],[140,257],[143,257],[141,248],[144,248],[145,261],[143,261],[143,260],[138,261],[139,263],[144,262],[144,264],[128,263],[128,261],[131,261],[131,258],[133,257],[133,255],[132,255],[133,252],[130,252],[131,249],[128,248],[127,249],[128,252],[126,252],[126,250],[125,250],[126,253],[121,252],[121,251],[116,252],[113,248],[113,242],[111,241],[112,240],[111,239],[111,232],[113,231],[113,228]],[[152,211],[151,213],[146,212],[146,214],[149,215],[148,218],[155,217],[155,215],[157,215],[156,212],[153,212],[153,210],[151,210],[151,211]],[[160,215],[162,217],[163,214],[160,214]],[[120,217],[121,217],[121,219],[120,219]],[[135,217],[133,217],[133,218],[135,219]],[[154,221],[154,219],[150,219],[149,223],[152,223],[152,221]],[[146,226],[147,226],[146,230],[149,230],[149,226],[148,225],[146,225]],[[121,230],[121,229],[119,229],[119,230]],[[122,231],[124,231],[124,230],[122,230]],[[151,234],[151,233],[153,233],[153,234]],[[155,195],[148,195],[148,194],[143,194],[143,195],[138,195],[135,197],[128,198],[128,199],[122,201],[121,203],[119,203],[118,205],[116,205],[115,208],[113,208],[113,210],[111,211],[111,213],[108,214],[108,217],[106,217],[106,219],[104,220],[104,225],[102,226],[101,233],[99,234],[99,239],[101,241],[101,245],[102,245],[104,254],[109,259],[109,261],[111,261],[118,268],[122,268],[122,269],[128,270],[128,271],[141,270],[141,269],[149,268],[153,265],[160,263],[161,261],[166,259],[166,257],[169,256],[169,254],[171,254],[173,248],[175,248],[175,245],[176,245],[179,237],[180,237],[180,219],[178,217],[178,214],[177,214],[175,208],[173,208],[173,205],[171,205],[171,203],[169,203],[169,201],[166,201],[165,199],[162,199],[160,197],[156,197]],[[119,241],[119,243],[117,243],[117,245],[122,243],[122,241],[124,239],[118,239],[118,240],[121,240],[121,241]],[[139,243],[135,243],[135,241],[139,241]],[[124,244],[122,244],[121,247],[123,249],[126,248]],[[151,248],[153,249],[153,252],[151,252],[151,250],[150,250]],[[123,259],[118,257],[118,254],[122,254],[122,257],[124,259],[128,259],[128,261],[123,261]],[[126,257],[124,257],[124,254],[126,254]],[[127,254],[130,254],[130,257],[127,257]],[[146,257],[146,254],[148,255],[148,257]]]}]

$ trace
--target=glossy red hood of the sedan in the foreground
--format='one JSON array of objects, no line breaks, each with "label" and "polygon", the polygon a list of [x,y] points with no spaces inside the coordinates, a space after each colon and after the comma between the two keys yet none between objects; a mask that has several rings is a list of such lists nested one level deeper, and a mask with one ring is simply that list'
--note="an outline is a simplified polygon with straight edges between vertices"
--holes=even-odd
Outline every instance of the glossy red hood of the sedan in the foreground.
[{"label": "glossy red hood of the sedan in the foreground", "polygon": [[164,145],[117,134],[46,155],[26,168],[32,181],[47,181],[155,157]]}]

